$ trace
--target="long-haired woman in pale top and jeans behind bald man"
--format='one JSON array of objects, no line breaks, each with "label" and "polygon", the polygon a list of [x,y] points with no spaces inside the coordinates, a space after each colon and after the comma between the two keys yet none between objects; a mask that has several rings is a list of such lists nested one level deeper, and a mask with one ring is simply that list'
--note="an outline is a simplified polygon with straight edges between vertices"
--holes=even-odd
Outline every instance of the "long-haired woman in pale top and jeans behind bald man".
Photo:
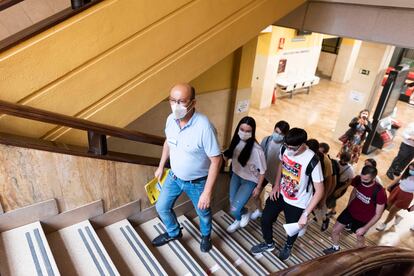
[{"label": "long-haired woman in pale top and jeans behind bald man", "polygon": [[234,131],[229,149],[224,152],[225,159],[232,159],[230,213],[235,220],[227,228],[230,233],[249,223],[250,214],[245,205],[252,194],[258,196],[261,191],[266,158],[255,134],[255,120],[248,116],[242,118]]}]

